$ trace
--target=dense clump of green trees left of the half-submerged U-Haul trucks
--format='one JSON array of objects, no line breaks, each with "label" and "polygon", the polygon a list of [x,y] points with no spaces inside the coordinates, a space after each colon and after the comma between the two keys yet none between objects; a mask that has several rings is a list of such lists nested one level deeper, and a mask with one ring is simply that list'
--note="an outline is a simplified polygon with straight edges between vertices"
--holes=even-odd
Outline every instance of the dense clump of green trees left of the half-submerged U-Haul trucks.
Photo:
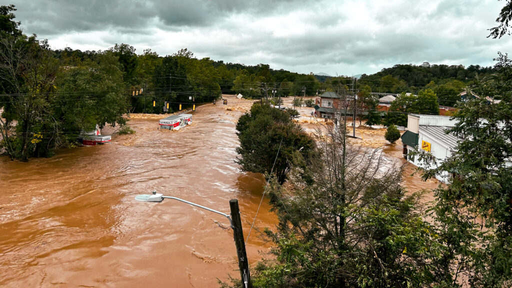
[{"label": "dense clump of green trees left of the half-submerged U-Haul trucks", "polygon": [[0,9],[0,132],[11,159],[47,157],[73,145],[81,131],[125,124],[122,67],[114,52],[59,58],[46,40],[17,30],[13,11]]}]

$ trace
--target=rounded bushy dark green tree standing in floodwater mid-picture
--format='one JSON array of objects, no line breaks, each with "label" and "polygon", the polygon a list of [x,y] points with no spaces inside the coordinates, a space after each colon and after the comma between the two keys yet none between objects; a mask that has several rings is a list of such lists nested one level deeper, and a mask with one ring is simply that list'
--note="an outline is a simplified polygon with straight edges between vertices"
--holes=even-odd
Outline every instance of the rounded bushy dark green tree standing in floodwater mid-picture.
[{"label": "rounded bushy dark green tree standing in floodwater mid-picture", "polygon": [[272,172],[279,183],[285,182],[292,168],[305,167],[307,162],[301,159],[309,159],[314,152],[314,140],[288,113],[259,102],[252,105],[250,113],[240,117],[237,131],[240,140],[237,153],[241,156],[237,163],[242,170]]}]

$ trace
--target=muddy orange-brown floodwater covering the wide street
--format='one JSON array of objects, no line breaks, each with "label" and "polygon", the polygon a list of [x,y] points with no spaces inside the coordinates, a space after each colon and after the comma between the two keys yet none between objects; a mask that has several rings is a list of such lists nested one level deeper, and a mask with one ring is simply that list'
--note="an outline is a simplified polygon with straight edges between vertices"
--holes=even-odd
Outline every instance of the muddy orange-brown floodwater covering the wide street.
[{"label": "muddy orange-brown floodwater covering the wide street", "polygon": [[[198,107],[193,124],[179,131],[157,130],[161,116],[133,115],[137,133],[110,145],[28,163],[1,157],[0,286],[217,287],[227,273],[237,278],[225,217],[175,200],[135,200],[156,190],[229,214],[228,201],[237,198],[247,236],[264,179],[234,163],[235,123],[252,101],[229,103]],[[400,141],[383,150],[404,161]],[[413,169],[404,173],[410,191],[437,186],[408,177]],[[257,227],[274,225],[268,211],[263,201]],[[269,248],[258,235],[252,230],[247,243],[251,264]]]}]

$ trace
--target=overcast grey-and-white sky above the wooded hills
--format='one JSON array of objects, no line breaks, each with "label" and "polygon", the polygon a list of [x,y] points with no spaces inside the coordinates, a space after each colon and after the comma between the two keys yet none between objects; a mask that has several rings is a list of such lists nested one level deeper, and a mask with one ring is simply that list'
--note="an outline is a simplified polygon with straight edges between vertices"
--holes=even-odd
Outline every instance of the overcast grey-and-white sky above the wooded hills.
[{"label": "overcast grey-and-white sky above the wooded hills", "polygon": [[245,65],[330,75],[396,64],[493,65],[512,36],[486,38],[497,0],[11,0],[26,34],[54,49],[187,48]]}]

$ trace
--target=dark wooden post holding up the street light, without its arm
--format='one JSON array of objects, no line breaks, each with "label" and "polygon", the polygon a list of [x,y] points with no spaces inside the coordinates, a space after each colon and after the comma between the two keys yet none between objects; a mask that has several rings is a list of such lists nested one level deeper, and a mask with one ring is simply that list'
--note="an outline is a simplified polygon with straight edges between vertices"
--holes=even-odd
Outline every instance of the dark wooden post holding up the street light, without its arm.
[{"label": "dark wooden post holding up the street light, without its arm", "polygon": [[[234,244],[237,246],[238,267],[240,269],[240,278],[244,287],[252,288],[249,261],[245,252],[244,232],[242,231],[242,220],[240,219],[240,209],[238,207],[238,200],[229,200],[229,207],[231,208],[231,218],[233,221],[233,238]],[[247,284],[245,282],[247,281]]]}]

